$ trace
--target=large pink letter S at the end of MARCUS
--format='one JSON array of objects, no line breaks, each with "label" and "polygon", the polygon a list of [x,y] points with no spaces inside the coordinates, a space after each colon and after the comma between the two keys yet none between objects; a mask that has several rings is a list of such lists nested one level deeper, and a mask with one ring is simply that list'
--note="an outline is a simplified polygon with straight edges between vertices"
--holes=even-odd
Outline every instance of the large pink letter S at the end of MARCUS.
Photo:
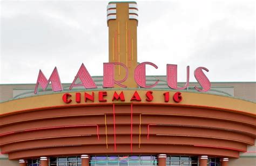
[{"label": "large pink letter S at the end of MARCUS", "polygon": [[201,85],[201,87],[203,89],[200,89],[197,86],[194,86],[194,88],[197,89],[197,91],[200,91],[200,92],[207,92],[211,89],[211,82],[208,80],[208,78],[204,74],[203,70],[205,70],[206,72],[209,71],[205,67],[198,67],[194,71],[194,77],[197,79],[198,83]]}]

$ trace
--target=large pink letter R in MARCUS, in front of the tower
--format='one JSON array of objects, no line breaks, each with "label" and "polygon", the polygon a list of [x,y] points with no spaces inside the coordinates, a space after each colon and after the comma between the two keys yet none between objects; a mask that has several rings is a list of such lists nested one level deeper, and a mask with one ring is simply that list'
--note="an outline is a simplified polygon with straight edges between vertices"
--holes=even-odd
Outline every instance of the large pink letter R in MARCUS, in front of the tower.
[{"label": "large pink letter R in MARCUS, in front of the tower", "polygon": [[[125,78],[117,81],[114,79],[114,65],[120,65],[123,66],[125,69]],[[128,78],[128,69],[127,67],[122,63],[104,63],[103,64],[103,87],[104,88],[112,88],[114,87],[114,84],[119,85],[120,87],[126,88],[125,85],[122,85],[121,83],[124,82]]]}]

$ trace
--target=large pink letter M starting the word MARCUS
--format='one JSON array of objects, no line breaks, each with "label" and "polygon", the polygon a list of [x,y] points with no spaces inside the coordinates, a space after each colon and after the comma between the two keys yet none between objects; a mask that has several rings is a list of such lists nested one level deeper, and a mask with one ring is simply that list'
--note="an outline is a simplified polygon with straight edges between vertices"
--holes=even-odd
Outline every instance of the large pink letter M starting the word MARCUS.
[{"label": "large pink letter M starting the word MARCUS", "polygon": [[60,82],[60,79],[59,79],[59,74],[58,74],[57,67],[55,67],[54,70],[52,71],[49,80],[47,80],[45,78],[43,72],[41,70],[39,70],[39,74],[38,74],[38,78],[37,78],[34,93],[37,94],[38,85],[41,85],[42,88],[43,88],[43,91],[45,91],[45,89],[48,87],[50,82],[51,82],[51,87],[52,87],[53,92],[63,91],[62,83]]}]

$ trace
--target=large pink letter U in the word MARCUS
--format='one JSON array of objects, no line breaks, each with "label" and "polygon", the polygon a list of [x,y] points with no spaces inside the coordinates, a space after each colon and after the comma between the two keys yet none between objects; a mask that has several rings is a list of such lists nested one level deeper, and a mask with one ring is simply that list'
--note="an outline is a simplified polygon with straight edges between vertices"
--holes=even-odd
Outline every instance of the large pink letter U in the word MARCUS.
[{"label": "large pink letter U in the word MARCUS", "polygon": [[187,66],[187,82],[184,87],[177,86],[177,65],[167,64],[166,79],[167,84],[172,89],[186,89],[190,85],[190,66]]}]

